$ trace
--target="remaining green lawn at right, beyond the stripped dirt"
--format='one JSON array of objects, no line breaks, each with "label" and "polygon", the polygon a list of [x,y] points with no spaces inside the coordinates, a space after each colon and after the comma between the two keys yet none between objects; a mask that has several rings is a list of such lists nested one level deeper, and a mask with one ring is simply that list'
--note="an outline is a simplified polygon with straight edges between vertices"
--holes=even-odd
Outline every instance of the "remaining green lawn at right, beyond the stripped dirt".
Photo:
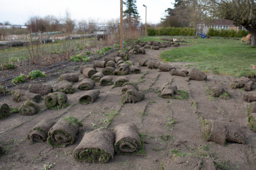
[{"label": "remaining green lawn at right, beyond the stripped dirt", "polygon": [[[142,37],[141,41],[162,41],[167,36]],[[172,36],[174,37],[174,36]],[[180,36],[176,36],[178,38]],[[250,64],[256,65],[256,48],[234,38],[211,37],[211,39],[184,39],[191,46],[175,48],[160,54],[166,62],[188,62],[204,72],[242,76],[256,74]],[[240,38],[239,38],[240,39]],[[197,42],[197,43],[196,43]]]}]

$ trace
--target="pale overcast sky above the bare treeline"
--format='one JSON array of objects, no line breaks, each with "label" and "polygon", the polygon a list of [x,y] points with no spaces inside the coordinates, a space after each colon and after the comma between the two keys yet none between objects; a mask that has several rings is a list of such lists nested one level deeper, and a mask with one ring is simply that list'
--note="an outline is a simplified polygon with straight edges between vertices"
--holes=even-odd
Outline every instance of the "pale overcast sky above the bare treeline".
[{"label": "pale overcast sky above the bare treeline", "polygon": [[[147,6],[147,23],[159,23],[166,14],[164,10],[173,7],[171,2],[174,0],[137,0],[141,22],[145,22],[143,4]],[[100,22],[120,17],[120,0],[1,0],[0,22],[24,25],[30,16],[64,17],[67,8],[76,21],[90,18]]]}]

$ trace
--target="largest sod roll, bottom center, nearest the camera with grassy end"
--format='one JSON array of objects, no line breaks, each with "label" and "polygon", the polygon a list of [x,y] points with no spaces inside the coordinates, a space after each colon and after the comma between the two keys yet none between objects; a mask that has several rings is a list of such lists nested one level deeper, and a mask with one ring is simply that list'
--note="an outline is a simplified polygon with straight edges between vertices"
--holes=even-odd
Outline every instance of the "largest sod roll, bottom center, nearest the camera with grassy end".
[{"label": "largest sod roll, bottom center, nearest the camera with grassy end", "polygon": [[73,151],[76,160],[105,163],[114,155],[114,133],[109,129],[96,129],[85,133],[82,141]]}]

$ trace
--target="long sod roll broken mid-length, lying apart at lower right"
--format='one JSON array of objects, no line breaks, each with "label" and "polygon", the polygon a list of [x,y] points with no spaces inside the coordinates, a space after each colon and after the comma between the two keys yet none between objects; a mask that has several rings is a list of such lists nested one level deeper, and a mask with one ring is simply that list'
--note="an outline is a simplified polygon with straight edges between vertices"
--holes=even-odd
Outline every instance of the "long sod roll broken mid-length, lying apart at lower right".
[{"label": "long sod roll broken mid-length, lying apart at lower right", "polygon": [[202,133],[204,139],[221,145],[226,142],[244,144],[244,136],[236,126],[227,125],[220,121],[202,120]]}]

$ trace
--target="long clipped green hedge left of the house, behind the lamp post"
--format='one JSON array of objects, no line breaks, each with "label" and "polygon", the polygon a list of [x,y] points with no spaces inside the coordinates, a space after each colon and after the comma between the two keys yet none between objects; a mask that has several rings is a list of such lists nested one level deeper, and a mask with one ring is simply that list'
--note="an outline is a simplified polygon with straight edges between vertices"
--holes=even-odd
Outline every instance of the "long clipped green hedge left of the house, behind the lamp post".
[{"label": "long clipped green hedge left of the house, behind the lamp post", "polygon": [[150,27],[147,29],[148,36],[154,36],[154,35],[186,35],[186,36],[192,36],[195,34],[194,28],[188,28],[188,27],[159,27],[154,28]]}]

